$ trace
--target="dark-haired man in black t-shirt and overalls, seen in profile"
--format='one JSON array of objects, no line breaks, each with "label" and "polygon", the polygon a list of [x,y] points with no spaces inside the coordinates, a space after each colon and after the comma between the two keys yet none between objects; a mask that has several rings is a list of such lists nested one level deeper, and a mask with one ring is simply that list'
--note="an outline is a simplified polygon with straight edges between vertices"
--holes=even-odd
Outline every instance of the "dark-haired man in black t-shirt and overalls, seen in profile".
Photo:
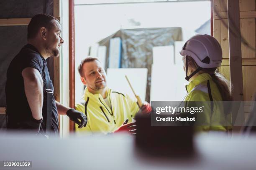
[{"label": "dark-haired man in black t-shirt and overalls, seen in profile", "polygon": [[[38,14],[31,19],[28,44],[14,57],[7,71],[7,129],[58,134],[58,113],[68,115],[79,128],[86,126],[87,117],[83,113],[65,107],[54,99],[46,59],[59,56],[60,46],[64,42],[60,34],[60,23],[51,15]],[[46,90],[46,86],[50,91]],[[47,93],[50,94],[48,97]],[[47,104],[49,101],[50,105]]]}]

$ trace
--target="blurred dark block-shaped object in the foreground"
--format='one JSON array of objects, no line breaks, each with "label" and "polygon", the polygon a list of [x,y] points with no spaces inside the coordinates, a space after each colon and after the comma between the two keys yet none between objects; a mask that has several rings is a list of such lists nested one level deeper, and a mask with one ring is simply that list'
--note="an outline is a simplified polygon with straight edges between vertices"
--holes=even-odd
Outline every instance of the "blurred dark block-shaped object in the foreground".
[{"label": "blurred dark block-shaped object in the foreground", "polygon": [[192,126],[151,126],[151,115],[136,114],[136,147],[143,152],[165,156],[194,153]]}]

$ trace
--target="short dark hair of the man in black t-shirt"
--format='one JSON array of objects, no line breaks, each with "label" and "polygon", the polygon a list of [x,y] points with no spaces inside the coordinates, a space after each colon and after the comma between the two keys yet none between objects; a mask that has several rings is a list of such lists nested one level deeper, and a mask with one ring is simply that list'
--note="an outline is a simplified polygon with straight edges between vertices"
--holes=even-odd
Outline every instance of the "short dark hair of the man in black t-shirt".
[{"label": "short dark hair of the man in black t-shirt", "polygon": [[28,39],[36,37],[38,30],[42,27],[50,30],[54,25],[54,20],[59,22],[57,18],[49,14],[37,14],[33,16],[28,24]]}]

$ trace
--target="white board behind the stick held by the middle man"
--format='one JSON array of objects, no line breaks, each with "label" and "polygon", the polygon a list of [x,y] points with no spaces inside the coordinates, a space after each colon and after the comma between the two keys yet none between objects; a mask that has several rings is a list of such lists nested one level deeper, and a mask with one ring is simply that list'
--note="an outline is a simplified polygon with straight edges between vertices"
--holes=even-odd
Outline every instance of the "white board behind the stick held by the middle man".
[{"label": "white board behind the stick held by the middle man", "polygon": [[135,100],[136,98],[133,95],[133,91],[125,79],[125,75],[127,75],[136,95],[139,95],[141,100],[145,101],[147,72],[148,69],[146,68],[108,68],[108,87],[113,91],[128,94]]}]

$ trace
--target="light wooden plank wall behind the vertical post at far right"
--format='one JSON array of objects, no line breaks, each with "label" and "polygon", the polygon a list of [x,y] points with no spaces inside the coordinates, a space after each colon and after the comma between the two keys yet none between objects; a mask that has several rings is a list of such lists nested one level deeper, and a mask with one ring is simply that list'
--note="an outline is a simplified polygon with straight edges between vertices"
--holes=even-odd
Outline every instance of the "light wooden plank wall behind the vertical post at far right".
[{"label": "light wooden plank wall behind the vertical post at far right", "polygon": [[[256,47],[256,0],[239,0],[240,5],[240,25],[241,35],[245,38],[249,45]],[[223,62],[219,68],[220,72],[230,80],[229,67],[229,44],[228,29],[221,22],[220,18],[227,23],[228,13],[227,0],[213,0],[213,36],[220,42],[223,49]],[[256,92],[256,52],[250,50],[243,43],[242,50],[242,70],[243,70],[243,98],[251,101]],[[251,102],[244,103],[245,120],[247,120],[250,112]]]}]

